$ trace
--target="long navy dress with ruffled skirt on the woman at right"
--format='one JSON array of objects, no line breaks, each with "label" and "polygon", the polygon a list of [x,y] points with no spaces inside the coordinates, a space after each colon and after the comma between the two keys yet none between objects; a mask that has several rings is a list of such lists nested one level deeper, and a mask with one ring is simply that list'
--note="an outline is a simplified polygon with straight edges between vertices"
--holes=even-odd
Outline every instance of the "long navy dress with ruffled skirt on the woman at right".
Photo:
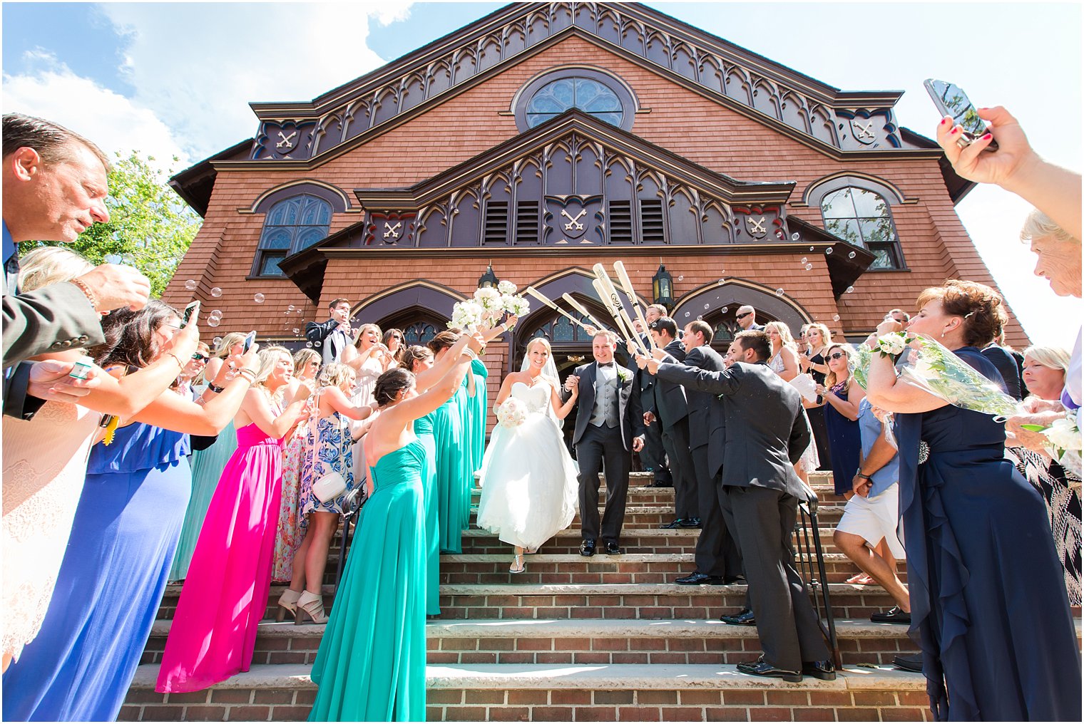
[{"label": "long navy dress with ruffled skirt on the woman at right", "polygon": [[[978,349],[956,354],[1001,382]],[[895,417],[912,629],[934,716],[1081,721],[1061,566],[1042,496],[1005,458],[1005,425],[952,405]]]}]

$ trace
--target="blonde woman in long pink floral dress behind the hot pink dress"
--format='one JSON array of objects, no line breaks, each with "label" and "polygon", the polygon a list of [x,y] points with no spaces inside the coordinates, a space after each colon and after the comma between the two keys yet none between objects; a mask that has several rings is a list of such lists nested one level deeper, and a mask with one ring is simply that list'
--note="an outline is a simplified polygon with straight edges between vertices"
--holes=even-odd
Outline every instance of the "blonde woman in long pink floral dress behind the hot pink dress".
[{"label": "blonde woman in long pink floral dress behind the hot pink dress", "polygon": [[[320,363],[320,354],[314,349],[302,347],[294,352],[294,377],[286,386],[283,399],[294,400],[302,384],[306,388],[314,387]],[[297,515],[300,505],[298,483],[301,480],[302,437],[301,435],[292,437],[282,453],[282,502],[279,505],[274,564],[271,567],[272,581],[294,580],[294,554],[297,553],[304,535],[299,525],[300,518]]]}]

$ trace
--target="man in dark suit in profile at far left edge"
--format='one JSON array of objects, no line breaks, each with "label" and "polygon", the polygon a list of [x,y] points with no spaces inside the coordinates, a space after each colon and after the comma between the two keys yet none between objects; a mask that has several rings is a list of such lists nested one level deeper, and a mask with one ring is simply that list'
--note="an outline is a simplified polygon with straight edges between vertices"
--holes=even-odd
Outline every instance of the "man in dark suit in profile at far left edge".
[{"label": "man in dark suit in profile at far left edge", "polygon": [[[4,414],[29,417],[43,400],[72,398],[93,383],[65,379],[70,363],[22,363],[37,354],[104,341],[102,313],[140,309],[150,281],[131,267],[102,264],[77,280],[20,294],[16,244],[74,242],[108,222],[108,160],[93,143],[48,120],[3,117],[3,366]],[[49,390],[63,389],[60,393]]]}]

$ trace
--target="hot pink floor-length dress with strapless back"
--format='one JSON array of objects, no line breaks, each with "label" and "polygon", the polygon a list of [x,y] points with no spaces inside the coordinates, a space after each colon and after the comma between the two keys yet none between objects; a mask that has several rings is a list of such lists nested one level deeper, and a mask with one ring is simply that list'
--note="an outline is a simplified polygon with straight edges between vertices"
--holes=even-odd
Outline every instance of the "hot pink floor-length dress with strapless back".
[{"label": "hot pink floor-length dress with strapless back", "polygon": [[282,449],[282,440],[255,423],[237,430],[237,450],[222,470],[181,589],[157,691],[195,691],[248,671],[271,584]]}]

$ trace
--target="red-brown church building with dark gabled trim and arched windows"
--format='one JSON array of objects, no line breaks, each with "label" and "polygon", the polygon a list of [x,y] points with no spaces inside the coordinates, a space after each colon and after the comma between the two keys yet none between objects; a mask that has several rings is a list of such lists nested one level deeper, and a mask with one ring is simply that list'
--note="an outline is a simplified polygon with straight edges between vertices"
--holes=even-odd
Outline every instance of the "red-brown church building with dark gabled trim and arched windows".
[{"label": "red-brown church building with dark gabled trim and arched windows", "polygon": [[[297,348],[345,297],[416,344],[496,280],[606,320],[591,269],[622,260],[717,347],[740,305],[861,339],[945,279],[994,285],[954,210],[973,184],[899,125],[900,96],[636,3],[513,3],[315,99],[237,99],[255,138],[170,181],[204,224],[165,301],[221,310],[208,338]],[[590,359],[532,300],[487,348],[491,393],[540,334],[563,371]]]}]

